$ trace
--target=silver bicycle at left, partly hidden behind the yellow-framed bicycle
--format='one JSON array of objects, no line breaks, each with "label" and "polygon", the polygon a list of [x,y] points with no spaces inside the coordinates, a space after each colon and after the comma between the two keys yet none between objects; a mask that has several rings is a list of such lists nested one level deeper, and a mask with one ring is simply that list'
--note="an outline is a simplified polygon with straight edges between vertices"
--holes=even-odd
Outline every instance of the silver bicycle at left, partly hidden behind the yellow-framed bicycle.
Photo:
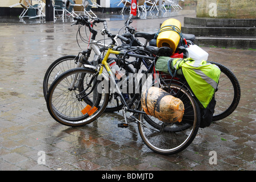
[{"label": "silver bicycle at left, partly hidden behind the yellow-framed bicycle", "polygon": [[[83,21],[79,22],[78,26],[78,33],[77,33],[77,42],[78,42],[78,36],[83,40],[83,42],[88,43],[88,47],[86,51],[81,51],[78,53],[78,55],[67,55],[60,57],[59,59],[55,60],[47,69],[45,73],[45,77],[43,78],[43,95],[46,99],[47,92],[49,90],[50,84],[57,78],[59,75],[61,75],[63,72],[72,69],[72,68],[81,68],[84,67],[83,65],[96,65],[97,63],[95,61],[98,60],[99,56],[102,56],[101,53],[104,49],[106,49],[106,46],[104,43],[99,42],[95,40],[98,32],[94,30],[94,26],[97,23],[102,23],[104,20],[99,18],[89,18],[87,16],[83,17]],[[77,24],[77,23],[74,23]],[[85,26],[85,32],[86,27],[89,28],[90,35],[88,38],[87,32],[87,38],[89,40],[86,40],[81,35],[81,28]],[[93,59],[89,60],[91,57],[91,53],[94,53]],[[122,108],[122,106],[119,105],[119,101],[116,99],[113,99],[110,105],[107,106],[106,111],[117,111]]]}]

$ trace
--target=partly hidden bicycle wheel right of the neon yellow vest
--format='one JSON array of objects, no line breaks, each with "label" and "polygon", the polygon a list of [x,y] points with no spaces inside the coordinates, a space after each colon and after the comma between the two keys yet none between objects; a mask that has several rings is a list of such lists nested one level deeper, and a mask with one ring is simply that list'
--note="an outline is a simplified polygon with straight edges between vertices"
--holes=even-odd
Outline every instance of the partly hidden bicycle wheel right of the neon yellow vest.
[{"label": "partly hidden bicycle wheel right of the neon yellow vest", "polygon": [[216,105],[213,121],[218,121],[232,114],[237,108],[241,98],[241,88],[237,77],[235,77],[234,73],[231,72],[229,68],[214,61],[208,62],[217,65],[219,69],[221,69],[218,89],[214,96]]}]

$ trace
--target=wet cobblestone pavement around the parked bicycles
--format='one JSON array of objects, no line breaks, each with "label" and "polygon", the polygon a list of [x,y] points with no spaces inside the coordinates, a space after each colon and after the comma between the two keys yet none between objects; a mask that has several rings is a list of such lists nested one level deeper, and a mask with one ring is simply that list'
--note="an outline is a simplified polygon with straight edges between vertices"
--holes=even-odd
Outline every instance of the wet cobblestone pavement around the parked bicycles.
[{"label": "wet cobblestone pavement around the parked bicycles", "polygon": [[[163,20],[134,20],[132,26],[153,32]],[[118,31],[123,21],[108,25]],[[63,126],[51,118],[43,76],[55,59],[77,55],[76,32],[70,23],[0,25],[0,170],[256,170],[255,50],[203,47],[209,60],[237,76],[241,101],[229,117],[199,129],[186,150],[164,156],[143,144],[137,125],[117,127],[121,113],[104,113],[83,127]],[[217,152],[217,164],[209,163],[210,151]],[[45,164],[38,163],[42,152]]]}]

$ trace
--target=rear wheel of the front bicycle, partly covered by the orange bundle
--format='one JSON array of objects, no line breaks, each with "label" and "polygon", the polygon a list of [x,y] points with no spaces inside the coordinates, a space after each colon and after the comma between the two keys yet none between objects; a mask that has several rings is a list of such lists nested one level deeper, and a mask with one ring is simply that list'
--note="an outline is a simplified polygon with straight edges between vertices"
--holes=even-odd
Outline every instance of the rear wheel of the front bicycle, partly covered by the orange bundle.
[{"label": "rear wheel of the front bicycle, partly covered by the orange bundle", "polygon": [[[143,142],[150,150],[163,155],[173,155],[185,150],[197,135],[201,119],[199,105],[191,94],[186,89],[182,89],[180,85],[173,84],[172,86],[173,88],[182,90],[189,99],[190,103],[186,102],[185,108],[188,107],[187,104],[193,107],[193,115],[187,116],[194,117],[193,122],[186,122],[186,124],[190,125],[189,128],[179,131],[159,129],[158,127],[152,126],[152,123],[146,121],[144,117],[146,114],[138,114],[138,120],[140,121],[138,122],[138,130]],[[183,119],[185,118],[183,117]],[[173,123],[162,122],[162,127],[171,125]]]}]

